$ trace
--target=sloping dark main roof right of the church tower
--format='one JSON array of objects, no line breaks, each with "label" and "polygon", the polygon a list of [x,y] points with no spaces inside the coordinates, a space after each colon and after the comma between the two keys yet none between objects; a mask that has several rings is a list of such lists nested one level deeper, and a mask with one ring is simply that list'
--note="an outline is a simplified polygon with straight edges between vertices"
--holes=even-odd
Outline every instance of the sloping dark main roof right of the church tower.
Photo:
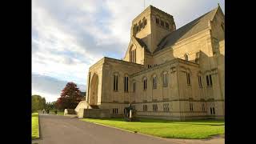
[{"label": "sloping dark main roof right of the church tower", "polygon": [[173,46],[176,42],[189,38],[190,36],[208,28],[208,22],[214,18],[218,8],[219,6],[214,10],[210,10],[210,12],[203,14],[201,17],[194,19],[194,21],[189,22],[185,26],[182,26],[178,30],[174,30],[174,32],[166,35],[166,37],[162,38],[162,41],[159,42],[158,48],[154,50],[154,53]]}]

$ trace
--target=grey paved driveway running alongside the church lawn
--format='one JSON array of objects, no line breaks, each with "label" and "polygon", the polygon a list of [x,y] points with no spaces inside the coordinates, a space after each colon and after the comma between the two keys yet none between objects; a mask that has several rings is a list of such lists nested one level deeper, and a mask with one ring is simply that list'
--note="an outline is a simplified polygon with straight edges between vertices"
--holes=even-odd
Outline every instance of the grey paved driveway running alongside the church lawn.
[{"label": "grey paved driveway running alongside the church lawn", "polygon": [[100,126],[59,115],[39,114],[40,138],[38,144],[178,144],[178,143],[224,143],[224,138],[208,140],[183,140],[157,138],[134,134],[108,126]]}]

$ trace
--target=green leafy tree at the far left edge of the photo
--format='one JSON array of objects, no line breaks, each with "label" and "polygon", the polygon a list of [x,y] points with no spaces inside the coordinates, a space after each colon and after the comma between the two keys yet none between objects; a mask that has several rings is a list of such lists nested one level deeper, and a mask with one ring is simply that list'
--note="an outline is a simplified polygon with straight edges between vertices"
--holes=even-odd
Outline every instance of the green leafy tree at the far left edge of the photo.
[{"label": "green leafy tree at the far left edge of the photo", "polygon": [[36,110],[42,110],[46,106],[46,98],[42,98],[40,95],[32,95],[32,112]]}]

